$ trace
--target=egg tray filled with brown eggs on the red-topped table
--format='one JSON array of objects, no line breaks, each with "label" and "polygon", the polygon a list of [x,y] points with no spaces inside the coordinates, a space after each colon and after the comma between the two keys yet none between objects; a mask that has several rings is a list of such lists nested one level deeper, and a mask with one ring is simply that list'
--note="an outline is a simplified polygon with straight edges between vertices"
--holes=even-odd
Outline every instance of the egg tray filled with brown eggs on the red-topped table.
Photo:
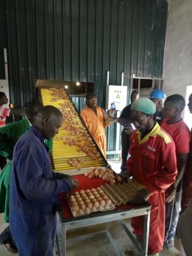
[{"label": "egg tray filled with brown eggs on the red-topped table", "polygon": [[[100,187],[86,189],[85,191],[81,189],[75,193],[68,194],[66,197],[70,211],[74,217],[88,215],[92,212],[104,212],[115,209],[115,205],[111,202],[109,196]],[[108,204],[108,200],[111,202],[110,205]],[[100,202],[99,207],[93,206],[95,202]]]}]

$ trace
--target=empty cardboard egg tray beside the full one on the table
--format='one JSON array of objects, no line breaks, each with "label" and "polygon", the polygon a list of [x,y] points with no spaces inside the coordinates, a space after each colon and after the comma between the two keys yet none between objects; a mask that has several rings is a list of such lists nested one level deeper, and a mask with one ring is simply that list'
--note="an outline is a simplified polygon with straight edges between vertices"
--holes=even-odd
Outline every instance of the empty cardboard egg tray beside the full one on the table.
[{"label": "empty cardboard egg tray beside the full one on the table", "polygon": [[129,180],[124,184],[106,184],[100,186],[106,195],[111,199],[114,205],[127,204],[138,191],[144,188],[135,180]]}]

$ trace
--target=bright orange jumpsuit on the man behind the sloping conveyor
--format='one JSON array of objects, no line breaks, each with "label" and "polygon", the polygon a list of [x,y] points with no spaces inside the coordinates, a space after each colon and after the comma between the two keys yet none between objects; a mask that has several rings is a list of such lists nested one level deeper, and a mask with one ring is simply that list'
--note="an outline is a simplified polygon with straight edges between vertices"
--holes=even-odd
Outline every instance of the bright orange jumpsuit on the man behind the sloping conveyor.
[{"label": "bright orange jumpsuit on the man behind the sloping conveyor", "polygon": [[88,108],[88,106],[86,106],[81,111],[81,117],[83,118],[94,140],[102,151],[102,154],[104,154],[104,156],[106,157],[107,140],[105,128],[108,127],[109,123],[104,123],[106,117],[102,108],[96,106],[96,111],[97,115],[95,115],[95,112],[91,108]]}]

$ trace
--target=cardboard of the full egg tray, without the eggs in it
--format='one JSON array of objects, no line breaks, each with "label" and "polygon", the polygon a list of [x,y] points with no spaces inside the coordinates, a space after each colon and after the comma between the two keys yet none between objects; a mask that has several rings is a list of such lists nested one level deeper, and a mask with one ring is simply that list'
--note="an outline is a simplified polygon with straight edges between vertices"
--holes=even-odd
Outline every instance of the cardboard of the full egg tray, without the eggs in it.
[{"label": "cardboard of the full egg tray, without the eggs in it", "polygon": [[[98,187],[98,188],[100,188],[100,187]],[[104,191],[102,191],[102,192],[104,193]],[[88,196],[88,193],[85,193],[85,194]],[[104,193],[104,194],[106,195],[106,193]],[[92,212],[105,212],[105,211],[111,211],[111,210],[115,209],[115,205],[112,202],[112,204],[110,206],[105,205],[102,209],[99,207],[99,208],[95,208],[95,209],[90,210],[90,209],[88,209],[88,207],[86,207],[86,210],[81,212],[81,214],[79,214],[79,212],[76,213],[76,212],[73,211],[72,204],[70,204],[70,196],[71,195],[76,196],[75,193],[71,193],[71,194],[66,195],[65,198],[67,199],[67,203],[68,203],[68,206],[70,208],[70,211],[71,211],[73,217],[88,215],[88,214],[91,214]],[[108,196],[108,198],[109,198],[109,196]],[[111,198],[109,198],[109,199],[111,199]],[[83,198],[82,198],[82,200],[83,200]]]}]

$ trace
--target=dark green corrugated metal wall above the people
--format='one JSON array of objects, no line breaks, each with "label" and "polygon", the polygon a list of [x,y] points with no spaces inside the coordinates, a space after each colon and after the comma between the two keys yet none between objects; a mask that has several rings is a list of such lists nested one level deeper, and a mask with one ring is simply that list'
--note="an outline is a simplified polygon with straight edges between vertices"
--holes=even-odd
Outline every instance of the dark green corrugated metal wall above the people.
[{"label": "dark green corrugated metal wall above the people", "polygon": [[104,106],[107,70],[110,84],[121,72],[125,85],[162,77],[167,10],[166,0],[1,0],[12,102],[31,100],[35,79],[55,79],[94,82]]}]

